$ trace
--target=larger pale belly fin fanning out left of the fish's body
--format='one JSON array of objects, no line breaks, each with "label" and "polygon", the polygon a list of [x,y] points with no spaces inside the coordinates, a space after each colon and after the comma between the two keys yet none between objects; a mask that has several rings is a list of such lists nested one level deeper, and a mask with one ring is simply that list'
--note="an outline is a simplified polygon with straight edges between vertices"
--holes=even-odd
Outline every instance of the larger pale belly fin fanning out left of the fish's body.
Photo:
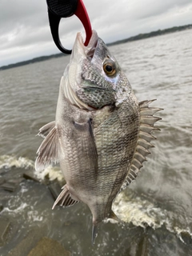
[{"label": "larger pale belly fin fanning out left of the fish's body", "polygon": [[58,130],[56,126],[54,126],[38,148],[38,158],[35,161],[35,169],[44,170],[46,166],[57,163],[59,161],[60,151]]}]

